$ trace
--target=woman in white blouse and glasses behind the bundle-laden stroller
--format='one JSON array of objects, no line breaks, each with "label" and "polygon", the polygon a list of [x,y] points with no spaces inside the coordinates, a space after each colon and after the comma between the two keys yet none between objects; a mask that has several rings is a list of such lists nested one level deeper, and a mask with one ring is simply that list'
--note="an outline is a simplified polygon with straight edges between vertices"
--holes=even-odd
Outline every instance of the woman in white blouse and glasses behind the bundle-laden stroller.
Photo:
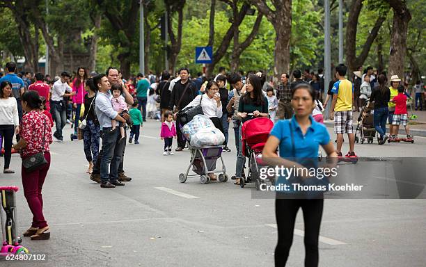
[{"label": "woman in white blouse and glasses behind the bundle-laden stroller", "polygon": [[203,113],[210,120],[212,120],[214,127],[219,129],[223,133],[223,127],[221,122],[222,117],[222,104],[221,104],[221,96],[219,95],[219,86],[216,81],[209,81],[207,86],[205,86],[205,94],[197,95],[191,103],[187,104],[185,108],[189,106],[197,106],[200,104],[203,108]]}]

